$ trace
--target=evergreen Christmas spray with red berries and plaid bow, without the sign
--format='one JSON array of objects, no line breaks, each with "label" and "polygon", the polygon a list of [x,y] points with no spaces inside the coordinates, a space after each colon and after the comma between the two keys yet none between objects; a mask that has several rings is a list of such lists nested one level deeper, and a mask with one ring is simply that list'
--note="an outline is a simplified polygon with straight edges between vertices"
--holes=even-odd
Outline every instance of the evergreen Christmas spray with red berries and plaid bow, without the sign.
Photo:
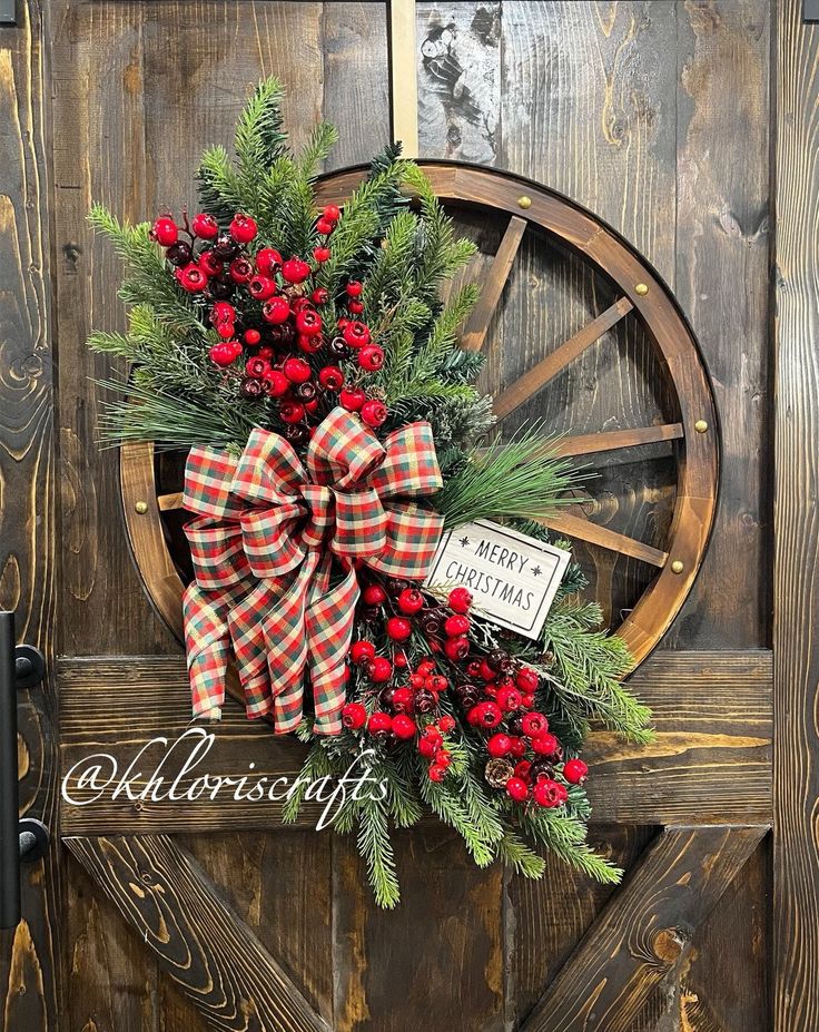
[{"label": "evergreen Christmas spray with red berries and plaid bow, without the sign", "polygon": [[[283,90],[262,82],[198,170],[199,214],[180,223],[90,219],[127,265],[127,333],[90,346],[127,360],[102,416],[111,443],[190,449],[184,598],[194,715],[216,719],[228,662],[250,717],[310,744],[285,807],[361,760],[381,790],[348,794],[375,897],[398,900],[391,827],[425,812],[478,865],[539,877],[546,847],[586,874],[620,872],[586,843],[579,758],[590,721],[644,741],[649,711],[620,682],[624,643],[599,629],[570,562],[540,636],[482,611],[463,584],[426,578],[442,535],[492,520],[539,541],[576,471],[537,427],[486,440],[481,355],[458,346],[477,297],[442,287],[473,255],[398,146],[343,206],[318,209]],[[483,441],[483,446],[478,442]],[[568,549],[566,542],[552,542]]]}]

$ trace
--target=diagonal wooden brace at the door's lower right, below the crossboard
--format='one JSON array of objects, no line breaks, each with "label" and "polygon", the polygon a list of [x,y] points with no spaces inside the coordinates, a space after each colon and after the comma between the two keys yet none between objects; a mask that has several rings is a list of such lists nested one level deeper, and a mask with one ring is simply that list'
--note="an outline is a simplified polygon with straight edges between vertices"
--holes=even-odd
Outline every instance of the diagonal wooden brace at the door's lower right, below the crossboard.
[{"label": "diagonal wooden brace at the door's lower right, below the crossboard", "polygon": [[628,1032],[767,830],[664,828],[521,1032]]}]

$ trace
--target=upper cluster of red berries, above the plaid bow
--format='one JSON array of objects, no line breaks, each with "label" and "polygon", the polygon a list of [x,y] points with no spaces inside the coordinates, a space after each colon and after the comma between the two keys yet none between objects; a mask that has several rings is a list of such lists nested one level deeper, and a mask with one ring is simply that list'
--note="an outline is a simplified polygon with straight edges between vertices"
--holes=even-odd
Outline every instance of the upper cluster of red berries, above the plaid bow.
[{"label": "upper cluster of red berries, above the plaid bow", "polygon": [[[341,214],[327,205],[316,220],[323,240],[313,250],[313,264],[298,255],[284,259],[273,247],[254,252],[258,227],[249,215],[235,215],[226,232],[205,213],[190,222],[186,215],[182,227],[164,215],[151,229],[179,286],[211,303],[209,320],[221,338],[209,351],[214,364],[236,381],[243,397],[274,399],[294,442],[306,440],[310,426],[336,404],[358,412],[373,429],[388,415],[383,401],[357,382],[384,364],[383,350],[362,321],[363,285],[347,283],[345,314],[338,318],[337,299],[310,285],[332,257],[329,237]],[[333,306],[332,333],[318,311],[327,306]],[[353,358],[359,372],[355,382],[346,382],[339,363]]]}]

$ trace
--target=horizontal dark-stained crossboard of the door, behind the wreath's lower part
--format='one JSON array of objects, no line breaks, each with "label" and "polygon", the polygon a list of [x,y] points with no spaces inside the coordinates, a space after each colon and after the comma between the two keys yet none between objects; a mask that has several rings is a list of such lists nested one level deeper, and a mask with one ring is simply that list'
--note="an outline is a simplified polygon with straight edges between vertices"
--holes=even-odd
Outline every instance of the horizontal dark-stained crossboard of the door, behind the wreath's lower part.
[{"label": "horizontal dark-stained crossboard of the door, behind the wreath's lower part", "polygon": [[[189,726],[181,657],[67,659],[59,675],[62,770],[69,796],[77,797],[77,765],[88,766],[86,757],[108,754],[112,759],[103,760],[103,770],[114,761],[118,769],[117,780],[96,802],[63,802],[66,834],[152,833],[169,824],[178,832],[280,827],[280,802],[235,800],[229,789],[216,802],[199,798],[195,805],[134,802],[125,788],[118,798],[109,797],[140,749],[155,738],[174,741]],[[658,652],[630,684],[653,707],[657,741],[637,748],[610,734],[592,735],[589,788],[599,820],[770,820],[769,652]],[[223,721],[208,729],[215,734],[211,750],[182,777],[180,787],[205,773],[239,777],[253,769],[272,779],[294,776],[300,767],[303,746],[274,738],[265,726],[248,721],[238,706],[226,707]],[[145,787],[164,751],[157,743],[131,770],[134,795]],[[162,773],[172,779],[189,753],[179,747]],[[317,816],[316,806],[306,807],[302,825],[315,825]]]}]

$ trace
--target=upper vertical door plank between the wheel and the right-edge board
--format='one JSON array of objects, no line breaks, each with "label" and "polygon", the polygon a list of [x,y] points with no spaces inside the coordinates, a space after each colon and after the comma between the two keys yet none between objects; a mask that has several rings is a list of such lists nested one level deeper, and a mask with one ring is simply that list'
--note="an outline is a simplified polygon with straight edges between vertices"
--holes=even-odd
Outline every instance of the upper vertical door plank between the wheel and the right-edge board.
[{"label": "upper vertical door plank between the wheel and the right-edge board", "polygon": [[[722,455],[707,564],[668,640],[675,648],[764,648],[771,598],[769,154],[776,4],[729,0],[675,8],[674,283],[711,372]],[[714,591],[714,584],[730,587]]]}]

